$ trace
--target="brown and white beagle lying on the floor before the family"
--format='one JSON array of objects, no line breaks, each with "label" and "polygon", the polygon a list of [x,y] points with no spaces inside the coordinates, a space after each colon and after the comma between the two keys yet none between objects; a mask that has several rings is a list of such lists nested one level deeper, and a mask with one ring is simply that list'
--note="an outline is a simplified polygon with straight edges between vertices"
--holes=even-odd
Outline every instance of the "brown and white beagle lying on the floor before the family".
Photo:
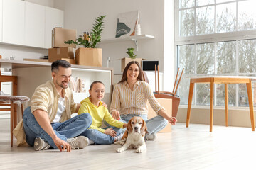
[{"label": "brown and white beagle lying on the floor before the family", "polygon": [[146,134],[146,122],[141,118],[134,116],[129,120],[127,130],[124,132],[122,140],[114,142],[114,144],[123,145],[117,148],[117,152],[124,152],[127,149],[136,149],[136,153],[146,151],[146,142],[144,140]]}]

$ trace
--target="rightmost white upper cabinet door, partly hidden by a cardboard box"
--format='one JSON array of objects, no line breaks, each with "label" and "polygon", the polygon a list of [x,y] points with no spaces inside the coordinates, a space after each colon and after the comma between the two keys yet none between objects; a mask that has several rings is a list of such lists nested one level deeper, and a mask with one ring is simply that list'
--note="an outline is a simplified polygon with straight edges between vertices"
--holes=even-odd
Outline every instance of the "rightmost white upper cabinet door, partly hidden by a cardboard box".
[{"label": "rightmost white upper cabinet door, partly hidden by a cardboard box", "polygon": [[52,30],[55,27],[64,26],[64,12],[56,9],[50,8],[46,6],[46,27],[45,27],[45,48],[51,48],[52,42]]}]

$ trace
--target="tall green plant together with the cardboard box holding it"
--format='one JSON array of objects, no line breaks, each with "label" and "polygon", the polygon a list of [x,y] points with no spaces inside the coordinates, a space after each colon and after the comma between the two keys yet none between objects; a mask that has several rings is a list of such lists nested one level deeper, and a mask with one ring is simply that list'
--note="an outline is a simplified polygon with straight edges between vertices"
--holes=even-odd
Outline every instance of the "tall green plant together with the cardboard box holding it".
[{"label": "tall green plant together with the cardboard box holding it", "polygon": [[80,36],[75,41],[65,41],[66,44],[82,45],[82,47],[75,50],[75,60],[77,64],[102,67],[102,48],[97,48],[97,44],[101,40],[105,17],[106,16],[99,16],[96,18],[90,34],[85,32],[83,37]]}]

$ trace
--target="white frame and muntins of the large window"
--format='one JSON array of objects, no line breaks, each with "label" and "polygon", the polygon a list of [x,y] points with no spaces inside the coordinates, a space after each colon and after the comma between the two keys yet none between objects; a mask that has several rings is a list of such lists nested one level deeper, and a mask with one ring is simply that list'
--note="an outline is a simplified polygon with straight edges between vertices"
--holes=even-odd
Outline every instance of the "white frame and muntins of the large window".
[{"label": "white frame and muntins of the large window", "polygon": [[[196,6],[196,0],[195,1],[195,5],[193,7],[190,8],[182,8],[182,10],[186,10],[186,9],[193,9],[194,13],[195,13],[195,28],[194,28],[194,35],[193,36],[188,36],[188,37],[180,37],[179,36],[179,14],[180,14],[180,9],[179,9],[179,1],[180,0],[175,0],[174,1],[174,24],[175,24],[175,36],[174,36],[174,45],[175,45],[175,51],[174,51],[174,56],[175,56],[175,67],[176,70],[178,68],[178,46],[179,45],[195,45],[195,61],[196,61],[196,45],[197,44],[202,44],[202,43],[214,43],[214,50],[215,50],[215,64],[214,64],[214,73],[216,74],[216,45],[218,42],[228,42],[228,41],[235,41],[236,43],[236,54],[235,54],[235,60],[236,60],[236,68],[235,68],[235,73],[234,74],[218,74],[218,75],[225,75],[225,76],[233,76],[233,75],[237,75],[237,76],[245,76],[245,75],[255,75],[256,72],[252,72],[252,73],[239,73],[239,69],[238,69],[238,57],[239,57],[239,52],[238,52],[238,43],[240,40],[252,40],[252,39],[256,39],[256,28],[255,30],[238,30],[238,2],[240,1],[248,1],[248,0],[233,0],[233,1],[228,1],[228,2],[223,2],[223,3],[218,3],[216,4],[216,0],[214,4],[210,4],[210,5],[205,5],[205,6],[200,6],[200,7],[207,7],[207,6],[214,6],[215,8],[215,21],[214,21],[214,33],[208,34],[208,35],[196,35],[196,8],[198,8],[199,6]],[[234,32],[227,32],[227,33],[216,33],[216,6],[217,5],[221,5],[221,4],[230,4],[230,3],[236,3],[236,30]],[[184,74],[183,76],[185,77],[191,77],[194,75],[206,75],[206,74],[196,74],[196,64],[195,64],[195,70],[194,70],[195,74]],[[210,75],[210,74],[207,74]],[[229,107],[233,107],[233,108],[247,108],[247,106],[239,106],[239,92],[238,92],[238,84],[236,84],[236,100],[235,100],[235,106],[229,106]],[[194,88],[194,94],[196,94],[196,87]],[[214,106],[216,108],[225,108],[225,106],[216,106],[216,85],[214,86]],[[193,106],[196,108],[206,108],[208,106],[199,106],[196,105],[196,95],[193,95],[193,99],[194,99],[194,104]],[[186,105],[183,105],[186,106]]]}]

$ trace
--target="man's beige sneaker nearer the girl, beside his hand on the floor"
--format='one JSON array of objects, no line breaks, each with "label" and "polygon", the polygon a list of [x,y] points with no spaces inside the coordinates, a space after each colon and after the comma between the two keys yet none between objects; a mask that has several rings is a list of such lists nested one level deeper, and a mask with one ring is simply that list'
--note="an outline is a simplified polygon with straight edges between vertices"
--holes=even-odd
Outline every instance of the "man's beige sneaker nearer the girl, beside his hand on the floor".
[{"label": "man's beige sneaker nearer the girl, beside his hand on the floor", "polygon": [[88,146],[88,138],[84,136],[72,137],[67,140],[72,149],[83,149]]}]

